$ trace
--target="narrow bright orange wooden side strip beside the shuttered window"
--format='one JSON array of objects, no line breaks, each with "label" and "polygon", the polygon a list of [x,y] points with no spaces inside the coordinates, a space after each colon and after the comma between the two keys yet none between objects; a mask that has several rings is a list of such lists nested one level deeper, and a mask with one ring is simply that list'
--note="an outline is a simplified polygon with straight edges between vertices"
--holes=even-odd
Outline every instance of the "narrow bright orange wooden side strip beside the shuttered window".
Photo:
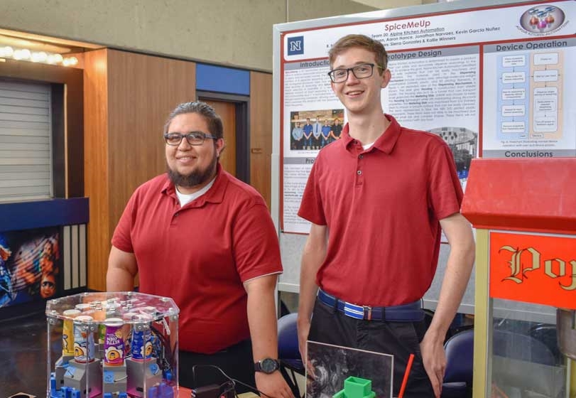
[{"label": "narrow bright orange wooden side strip beside the shuttered window", "polygon": [[106,289],[110,250],[108,164],[107,50],[85,53],[85,195],[89,198],[87,282],[89,289]]}]

